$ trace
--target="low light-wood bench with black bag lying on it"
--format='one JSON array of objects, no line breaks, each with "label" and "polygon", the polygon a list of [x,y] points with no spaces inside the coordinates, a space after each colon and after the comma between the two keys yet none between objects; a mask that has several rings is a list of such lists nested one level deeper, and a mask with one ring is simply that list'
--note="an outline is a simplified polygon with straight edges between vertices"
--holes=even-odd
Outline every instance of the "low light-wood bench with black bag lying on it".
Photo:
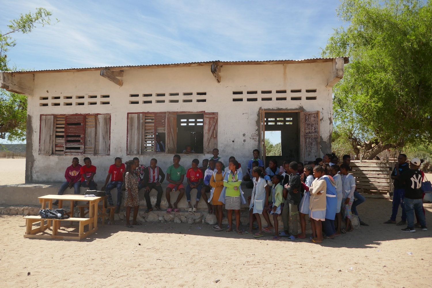
[{"label": "low light-wood bench with black bag lying on it", "polygon": [[[92,234],[97,228],[93,227],[92,218],[75,218],[70,217],[67,219],[46,219],[41,218],[41,216],[25,216],[26,230],[25,238],[46,238],[46,239],[62,239],[62,240],[81,240],[89,234]],[[45,224],[46,221],[46,224]],[[79,222],[78,236],[60,236],[58,235],[58,229],[60,228],[60,223],[62,221]],[[33,228],[33,224],[41,222],[40,226]],[[36,235],[40,232],[44,232],[51,227],[52,223],[52,235]],[[89,225],[87,232],[84,232],[84,226]]]}]

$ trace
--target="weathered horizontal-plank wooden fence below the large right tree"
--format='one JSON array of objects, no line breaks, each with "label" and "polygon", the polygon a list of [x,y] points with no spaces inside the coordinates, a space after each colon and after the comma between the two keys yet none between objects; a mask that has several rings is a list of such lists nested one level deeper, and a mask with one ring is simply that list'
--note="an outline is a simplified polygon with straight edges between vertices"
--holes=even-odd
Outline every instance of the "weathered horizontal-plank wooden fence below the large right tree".
[{"label": "weathered horizontal-plank wooden fence below the large right tree", "polygon": [[353,171],[350,172],[356,178],[357,191],[368,194],[387,194],[393,191],[390,179],[394,163],[381,160],[351,161]]}]

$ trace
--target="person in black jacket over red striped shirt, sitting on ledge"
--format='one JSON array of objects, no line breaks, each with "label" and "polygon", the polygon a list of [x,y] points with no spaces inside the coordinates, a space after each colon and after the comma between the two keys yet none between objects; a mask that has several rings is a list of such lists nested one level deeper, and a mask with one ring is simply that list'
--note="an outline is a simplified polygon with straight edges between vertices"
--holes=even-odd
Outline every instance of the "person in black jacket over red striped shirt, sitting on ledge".
[{"label": "person in black jacket over red striped shirt, sitting on ledge", "polygon": [[[144,213],[149,213],[153,210],[152,202],[150,201],[150,191],[155,189],[158,192],[156,197],[155,208],[157,211],[162,211],[160,205],[162,200],[162,186],[161,183],[165,180],[165,174],[158,164],[158,160],[156,158],[152,158],[150,160],[150,166],[144,170],[143,182],[142,185],[145,187],[144,198],[146,199],[147,209]],[[160,177],[160,178],[159,178]]]}]

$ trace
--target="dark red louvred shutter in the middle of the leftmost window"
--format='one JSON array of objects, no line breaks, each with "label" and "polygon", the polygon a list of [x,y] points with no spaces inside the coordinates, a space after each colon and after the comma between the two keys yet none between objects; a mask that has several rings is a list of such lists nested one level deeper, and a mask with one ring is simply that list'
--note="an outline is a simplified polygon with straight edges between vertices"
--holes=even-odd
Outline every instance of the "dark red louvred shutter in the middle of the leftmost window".
[{"label": "dark red louvred shutter in the middle of the leftmost window", "polygon": [[85,115],[66,115],[64,127],[64,154],[82,155],[84,152]]}]

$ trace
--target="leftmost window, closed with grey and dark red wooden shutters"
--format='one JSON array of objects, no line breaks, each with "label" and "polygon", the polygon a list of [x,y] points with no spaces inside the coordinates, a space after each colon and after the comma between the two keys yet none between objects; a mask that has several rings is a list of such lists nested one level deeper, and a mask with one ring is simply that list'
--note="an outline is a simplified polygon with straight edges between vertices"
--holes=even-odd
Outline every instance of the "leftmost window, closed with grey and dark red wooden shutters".
[{"label": "leftmost window, closed with grey and dark red wooden shutters", "polygon": [[39,154],[109,155],[110,114],[41,115]]}]

